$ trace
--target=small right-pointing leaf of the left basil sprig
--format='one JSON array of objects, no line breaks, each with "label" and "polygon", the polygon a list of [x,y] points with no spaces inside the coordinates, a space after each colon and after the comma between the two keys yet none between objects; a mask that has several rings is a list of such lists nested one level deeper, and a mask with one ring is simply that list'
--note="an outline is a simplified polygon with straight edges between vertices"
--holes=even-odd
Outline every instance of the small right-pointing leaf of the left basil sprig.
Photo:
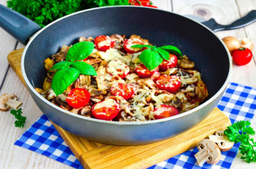
[{"label": "small right-pointing leaf of the left basil sprig", "polygon": [[97,75],[94,67],[92,65],[89,65],[88,63],[77,61],[71,65],[71,67],[74,67],[77,69],[80,73],[84,75]]}]

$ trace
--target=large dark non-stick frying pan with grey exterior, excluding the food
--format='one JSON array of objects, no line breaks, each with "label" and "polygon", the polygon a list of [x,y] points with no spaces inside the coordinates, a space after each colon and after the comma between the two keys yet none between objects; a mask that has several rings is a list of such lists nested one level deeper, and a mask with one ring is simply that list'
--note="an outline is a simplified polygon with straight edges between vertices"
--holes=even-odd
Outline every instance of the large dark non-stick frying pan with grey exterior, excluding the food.
[{"label": "large dark non-stick frying pan with grey exterior, excluding the food", "polygon": [[[20,27],[23,35],[26,34],[25,38],[20,38],[21,33],[17,30],[14,32],[25,44],[40,27],[20,17],[17,16],[16,21],[22,20],[22,24],[16,27]],[[5,22],[10,23],[9,20]],[[13,23],[11,21],[9,27]],[[203,104],[177,116],[127,123],[91,119],[68,112],[34,90],[35,87],[42,88],[46,76],[44,59],[57,53],[63,44],[74,44],[81,36],[95,38],[110,34],[126,34],[127,37],[137,34],[156,46],[177,46],[183,55],[195,62],[195,69],[201,72],[210,96]],[[177,13],[134,6],[100,7],[67,15],[36,32],[22,55],[22,73],[28,90],[36,105],[51,121],[75,135],[113,145],[153,143],[197,125],[217,106],[228,85],[231,69],[227,48],[209,28]]]}]

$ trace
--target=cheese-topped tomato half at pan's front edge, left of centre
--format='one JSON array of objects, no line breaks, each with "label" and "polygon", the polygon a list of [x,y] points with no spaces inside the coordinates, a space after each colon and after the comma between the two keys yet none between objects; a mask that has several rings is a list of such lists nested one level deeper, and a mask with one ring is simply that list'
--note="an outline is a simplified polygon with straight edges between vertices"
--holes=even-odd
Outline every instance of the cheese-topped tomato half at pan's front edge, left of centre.
[{"label": "cheese-topped tomato half at pan's front edge, left of centre", "polygon": [[113,99],[106,99],[92,106],[92,115],[96,119],[111,121],[119,114],[119,104]]}]

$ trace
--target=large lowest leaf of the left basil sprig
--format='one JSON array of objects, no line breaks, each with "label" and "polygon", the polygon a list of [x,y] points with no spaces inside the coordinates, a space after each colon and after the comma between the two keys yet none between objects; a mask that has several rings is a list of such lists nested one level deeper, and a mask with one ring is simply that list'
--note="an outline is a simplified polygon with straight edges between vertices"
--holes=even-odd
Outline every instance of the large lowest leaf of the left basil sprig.
[{"label": "large lowest leaf of the left basil sprig", "polygon": [[52,89],[55,92],[56,96],[62,94],[67,87],[73,83],[79,77],[80,72],[73,67],[61,69],[55,73],[52,81]]}]

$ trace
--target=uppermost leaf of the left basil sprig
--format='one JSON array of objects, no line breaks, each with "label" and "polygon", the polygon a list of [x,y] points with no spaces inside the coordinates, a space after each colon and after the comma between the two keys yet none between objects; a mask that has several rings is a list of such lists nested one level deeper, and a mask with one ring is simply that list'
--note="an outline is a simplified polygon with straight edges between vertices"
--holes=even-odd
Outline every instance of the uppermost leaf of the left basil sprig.
[{"label": "uppermost leaf of the left basil sprig", "polygon": [[94,43],[93,42],[79,42],[71,46],[67,51],[66,60],[67,61],[79,61],[84,60],[88,57],[92,50],[94,50]]}]

